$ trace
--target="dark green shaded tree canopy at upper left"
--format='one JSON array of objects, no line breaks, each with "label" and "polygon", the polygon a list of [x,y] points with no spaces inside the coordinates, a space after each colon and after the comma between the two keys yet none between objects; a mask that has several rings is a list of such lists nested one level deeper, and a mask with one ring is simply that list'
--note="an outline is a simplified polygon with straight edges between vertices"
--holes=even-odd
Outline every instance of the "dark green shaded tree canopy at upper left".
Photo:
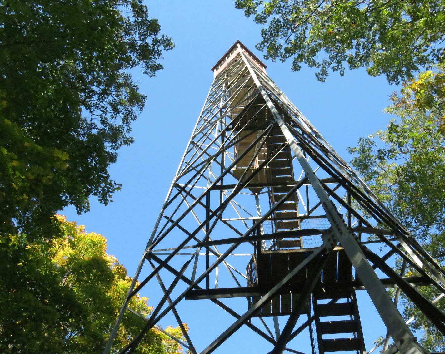
[{"label": "dark green shaded tree canopy at upper left", "polygon": [[128,71],[162,69],[141,0],[0,0],[0,235],[57,234],[57,210],[112,201],[117,149],[146,97]]}]

